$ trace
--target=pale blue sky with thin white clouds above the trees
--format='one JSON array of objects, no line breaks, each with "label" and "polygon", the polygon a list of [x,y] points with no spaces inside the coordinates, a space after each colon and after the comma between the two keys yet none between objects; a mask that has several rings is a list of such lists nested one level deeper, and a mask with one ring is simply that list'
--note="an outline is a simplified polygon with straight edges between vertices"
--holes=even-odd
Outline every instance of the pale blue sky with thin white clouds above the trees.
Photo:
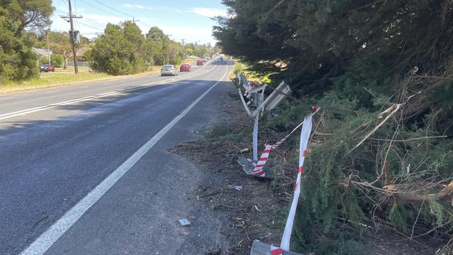
[{"label": "pale blue sky with thin white clouds above the trees", "polygon": [[[128,1],[128,0],[71,0],[72,12],[82,15],[75,23],[75,29],[83,36],[93,38],[102,33],[108,22],[118,24],[124,20],[139,20],[141,31],[146,33],[151,26],[158,26],[171,39],[181,42],[215,44],[211,36],[215,21],[210,17],[227,15],[220,0],[170,0],[170,1]],[[68,1],[54,0],[56,8],[52,16],[52,29],[68,31],[70,25],[60,15],[68,15]]]}]

